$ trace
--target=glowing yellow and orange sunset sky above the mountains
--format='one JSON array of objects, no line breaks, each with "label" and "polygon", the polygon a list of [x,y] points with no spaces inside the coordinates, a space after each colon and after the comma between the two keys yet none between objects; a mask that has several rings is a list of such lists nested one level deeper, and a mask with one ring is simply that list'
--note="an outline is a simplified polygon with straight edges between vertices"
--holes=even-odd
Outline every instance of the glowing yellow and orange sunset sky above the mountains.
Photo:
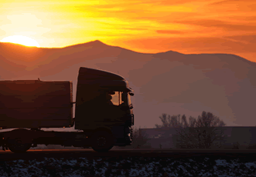
[{"label": "glowing yellow and orange sunset sky above the mountains", "polygon": [[101,40],[136,52],[230,53],[256,62],[254,0],[4,0],[0,40],[43,48]]}]

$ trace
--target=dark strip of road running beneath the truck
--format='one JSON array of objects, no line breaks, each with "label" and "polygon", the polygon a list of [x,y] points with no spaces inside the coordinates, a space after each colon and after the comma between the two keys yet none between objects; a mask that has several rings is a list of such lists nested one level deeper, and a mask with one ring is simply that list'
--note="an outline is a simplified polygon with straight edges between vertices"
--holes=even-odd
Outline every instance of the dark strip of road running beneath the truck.
[{"label": "dark strip of road running beneath the truck", "polygon": [[202,156],[223,156],[234,157],[234,158],[256,158],[256,150],[234,150],[228,149],[225,151],[217,150],[169,150],[169,149],[113,149],[109,152],[94,152],[92,149],[32,149],[26,153],[13,153],[9,150],[0,150],[0,161],[12,161],[12,160],[33,160],[33,159],[44,159],[44,158],[55,158],[55,159],[68,159],[68,158],[80,158],[84,157],[87,159],[94,158],[127,158],[127,157],[157,157],[157,158],[193,158]]}]

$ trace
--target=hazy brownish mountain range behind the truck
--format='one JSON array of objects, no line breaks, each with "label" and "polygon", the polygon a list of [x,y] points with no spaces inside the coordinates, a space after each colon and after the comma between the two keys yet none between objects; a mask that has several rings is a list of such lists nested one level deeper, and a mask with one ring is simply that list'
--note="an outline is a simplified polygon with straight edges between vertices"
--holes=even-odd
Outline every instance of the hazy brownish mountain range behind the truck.
[{"label": "hazy brownish mountain range behind the truck", "polygon": [[80,66],[127,78],[137,127],[161,124],[162,113],[197,117],[203,111],[227,125],[256,125],[256,63],[237,55],[145,54],[100,41],[65,48],[0,42],[0,79],[70,80],[76,92]]}]

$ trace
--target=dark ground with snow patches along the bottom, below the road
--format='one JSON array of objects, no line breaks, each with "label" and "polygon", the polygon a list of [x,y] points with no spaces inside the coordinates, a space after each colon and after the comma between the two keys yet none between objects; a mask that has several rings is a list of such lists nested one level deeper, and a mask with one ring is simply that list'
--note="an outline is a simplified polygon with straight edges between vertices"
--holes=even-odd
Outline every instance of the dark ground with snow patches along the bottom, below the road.
[{"label": "dark ground with snow patches along the bottom, below the road", "polygon": [[4,176],[256,176],[256,160],[218,158],[149,158],[119,156],[108,158],[42,160],[0,160]]}]

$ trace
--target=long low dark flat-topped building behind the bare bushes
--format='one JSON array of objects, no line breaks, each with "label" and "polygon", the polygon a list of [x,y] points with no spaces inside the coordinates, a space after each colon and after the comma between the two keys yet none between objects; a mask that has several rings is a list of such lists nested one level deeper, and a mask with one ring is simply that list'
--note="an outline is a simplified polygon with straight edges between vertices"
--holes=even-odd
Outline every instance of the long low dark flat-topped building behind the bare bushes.
[{"label": "long low dark flat-topped building behind the bare bushes", "polygon": [[[148,137],[148,144],[155,149],[176,149],[176,142],[172,139],[176,135],[176,129],[179,128],[164,128],[164,129],[139,129],[140,135]],[[247,149],[256,146],[256,127],[255,126],[224,126],[217,127],[217,131],[224,132],[222,148],[233,149],[234,145],[239,145],[240,149]],[[212,146],[213,149],[218,149]]]}]

